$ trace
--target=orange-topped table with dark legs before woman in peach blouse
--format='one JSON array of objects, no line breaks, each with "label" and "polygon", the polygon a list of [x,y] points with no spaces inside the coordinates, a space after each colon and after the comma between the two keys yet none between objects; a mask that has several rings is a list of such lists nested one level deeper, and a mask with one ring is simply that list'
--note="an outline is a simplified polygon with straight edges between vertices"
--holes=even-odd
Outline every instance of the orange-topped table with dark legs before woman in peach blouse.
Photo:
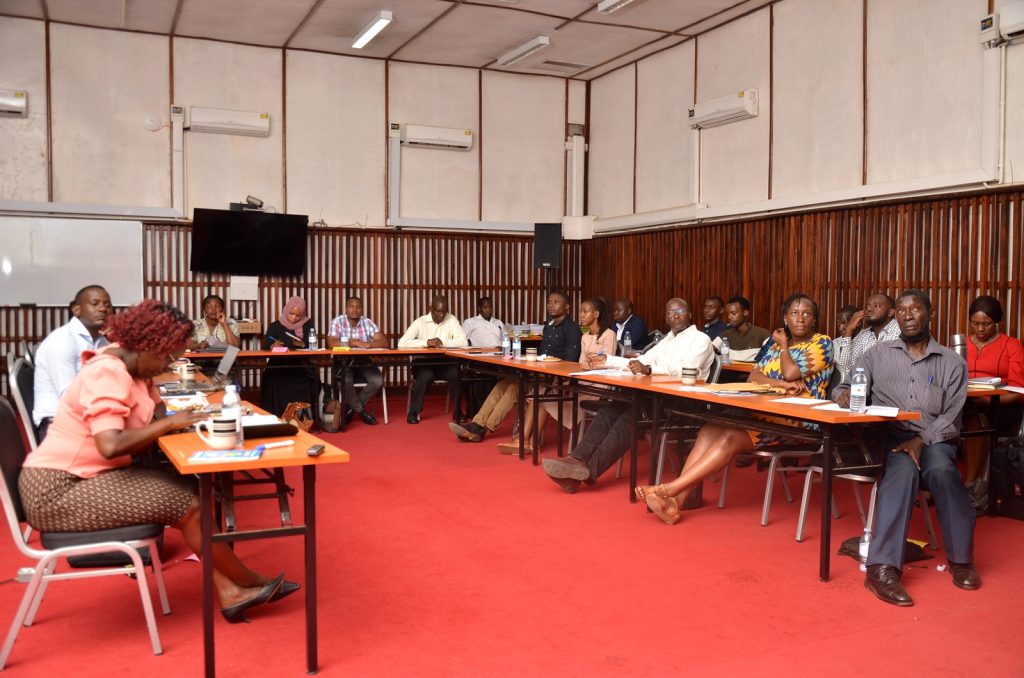
[{"label": "orange-topped table with dark legs before woman in peach blouse", "polygon": [[[191,463],[188,461],[193,453],[209,448],[195,432],[163,435],[159,440],[160,449],[171,460],[171,463],[174,464],[179,473],[182,475],[196,474],[200,480],[199,499],[203,533],[203,546],[200,553],[203,564],[203,645],[204,666],[207,676],[213,676],[216,673],[213,627],[215,611],[213,544],[215,542],[238,542],[292,536],[302,536],[305,542],[306,671],[309,674],[314,674],[317,670],[316,467],[324,464],[343,464],[348,462],[349,456],[344,450],[329,444],[321,438],[301,430],[296,435],[287,437],[246,440],[245,448],[251,450],[258,444],[283,440],[294,440],[295,444],[290,448],[272,448],[266,450],[257,460],[223,463]],[[306,450],[313,444],[324,446],[324,452],[318,457],[309,457],[306,455]],[[296,466],[302,467],[303,524],[231,533],[214,532],[214,474]]]}]

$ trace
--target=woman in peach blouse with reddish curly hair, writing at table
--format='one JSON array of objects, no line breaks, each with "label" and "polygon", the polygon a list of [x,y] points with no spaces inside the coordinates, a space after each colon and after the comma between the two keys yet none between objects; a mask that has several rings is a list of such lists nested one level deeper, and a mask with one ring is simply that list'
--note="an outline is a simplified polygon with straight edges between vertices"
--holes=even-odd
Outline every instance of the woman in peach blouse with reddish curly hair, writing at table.
[{"label": "woman in peach blouse with reddish curly hair, writing at table", "polygon": [[[169,524],[200,551],[200,510],[191,478],[141,468],[158,437],[207,415],[166,416],[153,377],[184,352],[193,324],[181,311],[146,300],[108,320],[113,342],[84,351],[82,370],[60,398],[49,433],[25,461],[18,480],[29,524],[40,532],[90,532]],[[213,545],[214,585],[228,622],[294,593],[284,575],[249,569],[223,543]]]}]

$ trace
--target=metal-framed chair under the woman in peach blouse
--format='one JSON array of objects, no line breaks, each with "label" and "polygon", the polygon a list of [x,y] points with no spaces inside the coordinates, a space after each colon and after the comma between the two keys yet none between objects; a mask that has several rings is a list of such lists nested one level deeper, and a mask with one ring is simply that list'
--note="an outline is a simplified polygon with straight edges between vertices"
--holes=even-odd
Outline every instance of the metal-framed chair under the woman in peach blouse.
[{"label": "metal-framed chair under the woman in peach blouse", "polygon": [[[3,482],[0,482],[0,502],[3,503],[7,526],[10,528],[14,546],[35,564],[18,569],[15,580],[27,584],[25,595],[14,613],[10,631],[0,649],[0,670],[7,664],[10,651],[17,640],[17,634],[23,626],[32,626],[42,603],[46,587],[51,581],[85,579],[89,577],[133,575],[138,583],[139,596],[142,599],[142,610],[145,615],[146,627],[150,631],[150,641],[154,654],[162,654],[160,635],[157,632],[157,619],[153,611],[153,601],[146,584],[145,567],[138,549],[150,547],[153,559],[153,574],[157,580],[157,590],[165,615],[171,613],[167,601],[167,591],[164,587],[164,575],[157,550],[157,541],[163,534],[164,526],[159,524],[132,525],[116,529],[103,529],[87,533],[42,533],[40,546],[30,545],[20,531],[20,522],[25,520],[18,494],[17,479],[25,462],[25,446],[22,434],[14,421],[14,411],[6,399],[0,397],[0,470],[3,471]],[[74,573],[57,573],[56,566],[60,559],[69,556],[91,555],[110,551],[120,551],[131,559],[128,567],[105,567]],[[122,580],[130,581],[130,580]],[[108,613],[104,610],[104,613]]]}]

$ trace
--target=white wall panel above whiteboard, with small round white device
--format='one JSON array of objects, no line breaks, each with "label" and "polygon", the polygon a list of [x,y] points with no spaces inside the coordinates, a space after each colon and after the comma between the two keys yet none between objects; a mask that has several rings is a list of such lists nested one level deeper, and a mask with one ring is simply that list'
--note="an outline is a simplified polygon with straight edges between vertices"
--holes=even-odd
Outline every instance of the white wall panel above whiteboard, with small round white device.
[{"label": "white wall panel above whiteboard, with small round white device", "polygon": [[170,206],[167,41],[50,26],[54,201]]}]

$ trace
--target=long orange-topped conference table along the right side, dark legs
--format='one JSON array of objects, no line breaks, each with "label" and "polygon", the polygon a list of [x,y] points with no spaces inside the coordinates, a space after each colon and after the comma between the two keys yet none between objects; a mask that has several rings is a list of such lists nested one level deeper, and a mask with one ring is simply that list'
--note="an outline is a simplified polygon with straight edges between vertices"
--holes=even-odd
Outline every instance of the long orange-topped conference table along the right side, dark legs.
[{"label": "long orange-topped conference table along the right side, dark legs", "polygon": [[[715,422],[738,428],[753,428],[774,432],[783,432],[798,439],[807,440],[815,447],[820,446],[822,457],[822,499],[821,499],[821,544],[818,558],[818,577],[822,582],[829,579],[829,559],[831,549],[831,492],[833,477],[837,472],[853,472],[864,468],[877,468],[877,462],[864,462],[863,465],[845,463],[837,449],[837,441],[842,431],[865,424],[879,424],[888,421],[909,421],[921,418],[915,412],[900,411],[895,417],[881,417],[866,414],[854,414],[849,411],[820,410],[808,405],[780,402],[785,396],[777,394],[720,394],[710,389],[683,386],[677,377],[671,376],[638,376],[629,372],[622,375],[602,373],[588,374],[583,372],[578,363],[565,362],[529,362],[524,359],[509,359],[494,355],[493,351],[467,350],[450,351],[450,354],[471,364],[473,369],[498,371],[509,374],[520,371],[520,380],[528,375],[532,378],[534,391],[539,389],[542,379],[546,379],[554,388],[570,391],[592,392],[590,386],[605,387],[599,392],[605,397],[617,397],[631,404],[633,414],[633,436],[630,450],[630,500],[636,501],[634,489],[637,484],[637,457],[639,435],[639,417],[641,398],[650,398],[654,405],[652,423],[658,424],[659,404],[666,401],[688,401],[703,406],[699,413],[687,416],[698,418],[706,422]],[[609,388],[610,387],[610,388]],[[520,389],[521,401],[525,391]],[[535,401],[535,408],[537,407]],[[753,415],[781,418],[805,424],[813,424],[814,429],[800,426],[786,426],[777,421],[764,421]],[[536,431],[535,431],[536,435]],[[520,446],[523,444],[520,436]],[[520,449],[520,458],[523,457]],[[534,462],[538,462],[537,446],[534,447]],[[654,480],[654,464],[650,468],[650,481]]]}]

